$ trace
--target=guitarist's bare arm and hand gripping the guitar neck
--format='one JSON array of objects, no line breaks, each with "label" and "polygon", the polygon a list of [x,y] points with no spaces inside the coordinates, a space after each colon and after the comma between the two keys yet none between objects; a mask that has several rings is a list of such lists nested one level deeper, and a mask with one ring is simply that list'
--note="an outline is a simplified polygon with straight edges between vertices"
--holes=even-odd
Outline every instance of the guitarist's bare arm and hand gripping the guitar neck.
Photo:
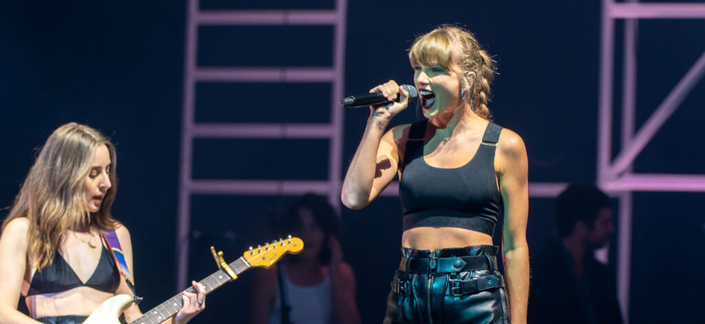
[{"label": "guitarist's bare arm and hand gripping the guitar neck", "polygon": [[[115,234],[120,240],[120,247],[121,249],[123,249],[125,263],[127,263],[130,273],[132,274],[133,278],[135,278],[135,268],[133,267],[132,239],[130,238],[130,232],[127,228],[125,228],[125,226],[123,226],[122,224],[118,224],[115,228]],[[174,316],[173,318],[169,318],[164,323],[187,323],[191,318],[193,318],[193,316],[196,316],[197,313],[200,313],[201,311],[203,311],[203,309],[206,308],[205,288],[201,284],[196,284],[195,282],[194,284],[194,287],[198,291],[198,294],[185,292],[183,295],[183,307],[176,314],[176,316]],[[123,278],[121,278],[120,286],[118,287],[118,290],[115,292],[115,294],[127,294],[129,296],[135,296],[135,294],[133,294],[132,292],[132,289],[128,287],[127,282],[125,282]],[[198,304],[198,301],[201,301],[201,304]],[[125,310],[125,319],[128,321],[128,323],[133,320],[136,320],[140,316],[142,316],[142,311],[140,311],[140,307],[137,306],[137,304],[131,304],[130,307]]]}]

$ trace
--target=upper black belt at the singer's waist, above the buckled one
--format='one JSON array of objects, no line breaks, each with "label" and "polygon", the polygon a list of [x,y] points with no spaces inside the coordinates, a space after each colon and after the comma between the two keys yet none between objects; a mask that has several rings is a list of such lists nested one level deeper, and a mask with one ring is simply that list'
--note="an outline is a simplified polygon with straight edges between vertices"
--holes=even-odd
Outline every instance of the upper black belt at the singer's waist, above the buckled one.
[{"label": "upper black belt at the singer's waist, above the buckled one", "polygon": [[[405,273],[454,273],[494,270],[494,256],[455,256],[453,258],[401,258],[399,270]],[[493,266],[490,266],[490,263]]]}]

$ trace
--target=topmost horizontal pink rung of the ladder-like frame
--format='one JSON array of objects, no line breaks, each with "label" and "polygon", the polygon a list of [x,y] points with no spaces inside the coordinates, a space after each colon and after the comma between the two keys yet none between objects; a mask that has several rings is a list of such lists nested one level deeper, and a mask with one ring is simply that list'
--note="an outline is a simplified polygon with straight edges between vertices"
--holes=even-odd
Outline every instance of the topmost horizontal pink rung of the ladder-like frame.
[{"label": "topmost horizontal pink rung of the ladder-like frame", "polygon": [[243,10],[200,11],[200,25],[336,25],[338,13],[333,10]]}]

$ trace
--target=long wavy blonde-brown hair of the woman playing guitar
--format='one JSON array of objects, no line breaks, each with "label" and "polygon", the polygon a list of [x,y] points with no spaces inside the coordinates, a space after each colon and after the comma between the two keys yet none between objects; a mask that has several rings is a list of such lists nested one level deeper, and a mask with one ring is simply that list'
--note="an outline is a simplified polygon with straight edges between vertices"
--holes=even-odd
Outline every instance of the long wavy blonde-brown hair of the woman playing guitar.
[{"label": "long wavy blonde-brown hair of the woman playing guitar", "polygon": [[[112,187],[106,192],[99,211],[90,213],[85,194],[94,151],[100,145],[110,152]],[[114,229],[116,220],[110,213],[117,190],[114,145],[99,131],[87,125],[68,123],[54,130],[39,151],[20,193],[3,222],[30,220],[27,233],[31,262],[38,270],[51,266],[57,249],[68,230],[90,226],[99,230]]]}]

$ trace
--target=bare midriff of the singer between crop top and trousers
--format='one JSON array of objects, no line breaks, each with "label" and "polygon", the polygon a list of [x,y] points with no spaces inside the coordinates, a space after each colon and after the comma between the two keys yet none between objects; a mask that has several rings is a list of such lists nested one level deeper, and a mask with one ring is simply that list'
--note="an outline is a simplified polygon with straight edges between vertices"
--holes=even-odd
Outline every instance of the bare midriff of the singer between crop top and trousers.
[{"label": "bare midriff of the singer between crop top and trousers", "polygon": [[401,236],[401,246],[418,250],[440,250],[471,245],[492,245],[492,237],[464,228],[411,228]]}]

